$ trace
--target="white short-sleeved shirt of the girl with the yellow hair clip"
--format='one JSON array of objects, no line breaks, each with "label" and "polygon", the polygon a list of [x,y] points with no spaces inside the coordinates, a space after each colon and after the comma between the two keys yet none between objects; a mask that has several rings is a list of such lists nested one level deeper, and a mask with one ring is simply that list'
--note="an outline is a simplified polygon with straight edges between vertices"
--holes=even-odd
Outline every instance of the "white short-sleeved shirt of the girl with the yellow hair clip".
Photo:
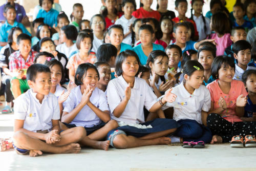
[{"label": "white short-sleeved shirt of the girl with the yellow hair clip", "polygon": [[[174,120],[192,119],[202,124],[202,110],[208,112],[210,110],[210,92],[201,85],[191,95],[181,83],[174,87],[172,93],[177,97],[173,103],[166,103],[162,107],[163,110],[168,107],[174,107]],[[159,97],[162,98],[163,96]]]}]

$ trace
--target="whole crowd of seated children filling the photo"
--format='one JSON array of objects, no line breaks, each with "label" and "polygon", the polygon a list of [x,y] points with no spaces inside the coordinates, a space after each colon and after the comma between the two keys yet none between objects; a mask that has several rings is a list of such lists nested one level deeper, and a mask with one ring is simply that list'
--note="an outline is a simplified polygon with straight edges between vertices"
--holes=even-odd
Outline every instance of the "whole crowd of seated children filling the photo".
[{"label": "whole crowd of seated children filling the photo", "polygon": [[[230,142],[256,147],[256,1],[102,0],[69,17],[39,0],[28,32],[13,0],[0,7],[2,113],[14,112],[17,154]],[[121,3],[121,4],[119,4]],[[21,6],[22,7],[22,6]],[[54,9],[54,8],[55,9]],[[2,15],[2,14],[1,14]],[[254,35],[253,35],[254,33]],[[253,38],[254,37],[254,38]],[[14,104],[12,103],[14,101]]]}]

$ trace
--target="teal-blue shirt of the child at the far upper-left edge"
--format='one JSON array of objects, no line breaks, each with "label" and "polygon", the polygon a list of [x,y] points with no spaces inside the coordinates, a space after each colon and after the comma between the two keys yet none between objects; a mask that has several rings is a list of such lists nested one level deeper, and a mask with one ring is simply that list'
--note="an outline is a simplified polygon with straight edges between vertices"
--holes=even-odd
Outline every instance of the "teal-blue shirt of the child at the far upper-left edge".
[{"label": "teal-blue shirt of the child at the far upper-left edge", "polygon": [[6,20],[5,24],[0,26],[0,41],[7,42],[9,30],[11,30],[11,28],[13,28],[13,27],[19,27],[20,29],[22,29],[23,33],[26,33],[29,36],[31,36],[29,31],[23,26],[23,24],[18,23],[18,22],[15,21],[13,26],[12,26],[9,23],[7,23],[7,20]]}]

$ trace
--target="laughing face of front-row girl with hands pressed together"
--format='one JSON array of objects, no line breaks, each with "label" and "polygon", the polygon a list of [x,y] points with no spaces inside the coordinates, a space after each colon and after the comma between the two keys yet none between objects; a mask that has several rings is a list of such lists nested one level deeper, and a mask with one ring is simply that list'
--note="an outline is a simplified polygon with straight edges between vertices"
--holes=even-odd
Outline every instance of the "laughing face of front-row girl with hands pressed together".
[{"label": "laughing face of front-row girl with hands pressed together", "polygon": [[86,74],[82,77],[81,89],[86,89],[87,86],[90,86],[90,89],[95,90],[98,86],[99,76],[98,73],[93,68],[89,68]]}]

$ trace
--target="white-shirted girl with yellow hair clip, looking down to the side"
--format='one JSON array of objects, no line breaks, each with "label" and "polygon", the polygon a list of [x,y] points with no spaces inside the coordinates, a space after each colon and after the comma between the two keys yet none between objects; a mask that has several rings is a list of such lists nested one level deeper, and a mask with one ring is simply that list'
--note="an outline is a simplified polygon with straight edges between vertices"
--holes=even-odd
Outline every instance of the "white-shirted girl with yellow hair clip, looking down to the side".
[{"label": "white-shirted girl with yellow hair clip, looking down to the side", "polygon": [[181,125],[175,132],[176,136],[171,136],[173,142],[183,142],[183,147],[204,147],[212,137],[206,127],[210,92],[202,85],[204,68],[198,61],[188,60],[183,67],[183,75],[183,83],[172,90],[177,98],[173,103],[167,102],[162,109],[174,107],[174,120]]}]

